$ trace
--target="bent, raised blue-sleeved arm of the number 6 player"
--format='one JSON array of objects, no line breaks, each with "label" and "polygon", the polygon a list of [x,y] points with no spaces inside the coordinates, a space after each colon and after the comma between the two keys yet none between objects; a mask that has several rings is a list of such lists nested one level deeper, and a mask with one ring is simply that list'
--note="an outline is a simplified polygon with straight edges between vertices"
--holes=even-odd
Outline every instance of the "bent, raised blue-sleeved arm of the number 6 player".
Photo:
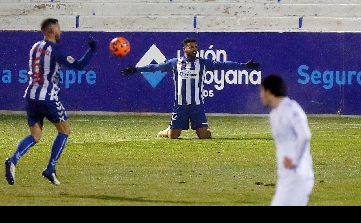
[{"label": "bent, raised blue-sleeved arm of the number 6 player", "polygon": [[74,57],[67,55],[61,50],[56,51],[56,60],[66,67],[82,70],[89,63],[94,51],[96,50],[96,42],[90,37],[88,38],[88,45],[90,48],[80,60],[76,60]]}]

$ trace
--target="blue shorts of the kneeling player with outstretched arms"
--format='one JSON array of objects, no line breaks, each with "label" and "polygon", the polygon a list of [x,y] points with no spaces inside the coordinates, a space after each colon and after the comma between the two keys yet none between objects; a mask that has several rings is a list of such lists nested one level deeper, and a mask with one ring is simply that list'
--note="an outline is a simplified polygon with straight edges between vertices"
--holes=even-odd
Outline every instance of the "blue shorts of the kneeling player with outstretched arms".
[{"label": "blue shorts of the kneeling player with outstretched arms", "polygon": [[191,129],[193,130],[208,127],[203,104],[174,106],[169,127],[187,130],[189,129],[189,120],[191,120]]}]

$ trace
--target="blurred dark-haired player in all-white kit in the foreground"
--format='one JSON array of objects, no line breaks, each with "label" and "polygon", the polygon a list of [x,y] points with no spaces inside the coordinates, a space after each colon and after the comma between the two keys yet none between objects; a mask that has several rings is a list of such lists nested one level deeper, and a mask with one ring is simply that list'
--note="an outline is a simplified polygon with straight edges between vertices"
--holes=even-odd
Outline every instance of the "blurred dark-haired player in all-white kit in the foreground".
[{"label": "blurred dark-haired player in all-white kit in the foreground", "polygon": [[272,108],[269,117],[276,145],[277,184],[271,205],[307,205],[314,185],[307,116],[286,96],[286,86],[278,76],[262,81],[260,96]]}]

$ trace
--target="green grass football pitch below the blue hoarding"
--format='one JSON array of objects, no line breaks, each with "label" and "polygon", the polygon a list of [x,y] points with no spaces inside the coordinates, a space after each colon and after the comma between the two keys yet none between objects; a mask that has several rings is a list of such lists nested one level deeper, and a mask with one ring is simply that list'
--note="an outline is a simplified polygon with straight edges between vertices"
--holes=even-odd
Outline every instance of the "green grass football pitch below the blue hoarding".
[{"label": "green grass football pitch below the blue hoarding", "polygon": [[[43,138],[0,180],[0,205],[269,205],[276,183],[267,117],[208,117],[211,140],[195,131],[157,138],[168,116],[71,115],[57,163],[61,185],[42,177],[56,136]],[[28,134],[25,115],[0,115],[0,160]],[[310,117],[315,185],[309,205],[361,205],[359,118]],[[256,185],[262,182],[263,185]]]}]

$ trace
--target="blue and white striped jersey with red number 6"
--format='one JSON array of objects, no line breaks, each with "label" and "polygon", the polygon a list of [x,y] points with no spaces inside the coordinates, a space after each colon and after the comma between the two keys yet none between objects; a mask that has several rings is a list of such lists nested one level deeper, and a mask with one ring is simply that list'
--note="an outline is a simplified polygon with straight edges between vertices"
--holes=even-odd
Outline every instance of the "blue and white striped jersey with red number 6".
[{"label": "blue and white striped jersey with red number 6", "polygon": [[59,70],[62,65],[82,69],[90,60],[92,51],[89,49],[81,60],[75,60],[64,53],[58,44],[50,40],[43,39],[35,43],[29,54],[29,85],[25,90],[24,98],[57,99],[60,91]]}]

